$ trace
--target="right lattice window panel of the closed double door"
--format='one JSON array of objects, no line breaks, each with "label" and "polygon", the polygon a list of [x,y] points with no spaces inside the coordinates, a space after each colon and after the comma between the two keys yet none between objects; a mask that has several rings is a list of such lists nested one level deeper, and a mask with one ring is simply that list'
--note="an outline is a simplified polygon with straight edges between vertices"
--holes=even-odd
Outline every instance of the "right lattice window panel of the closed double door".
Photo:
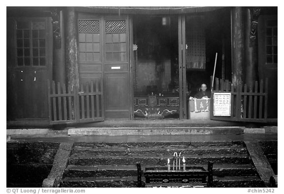
[{"label": "right lattice window panel of the closed double door", "polygon": [[106,61],[127,61],[126,21],[106,20]]}]

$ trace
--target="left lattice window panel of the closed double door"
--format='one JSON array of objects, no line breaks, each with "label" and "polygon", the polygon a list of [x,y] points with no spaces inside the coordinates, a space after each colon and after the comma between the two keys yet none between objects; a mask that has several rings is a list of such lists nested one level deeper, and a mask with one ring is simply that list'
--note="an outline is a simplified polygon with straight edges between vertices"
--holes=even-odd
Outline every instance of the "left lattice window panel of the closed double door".
[{"label": "left lattice window panel of the closed double door", "polygon": [[78,30],[79,30],[79,61],[80,62],[101,61],[100,21],[80,19],[78,21]]}]

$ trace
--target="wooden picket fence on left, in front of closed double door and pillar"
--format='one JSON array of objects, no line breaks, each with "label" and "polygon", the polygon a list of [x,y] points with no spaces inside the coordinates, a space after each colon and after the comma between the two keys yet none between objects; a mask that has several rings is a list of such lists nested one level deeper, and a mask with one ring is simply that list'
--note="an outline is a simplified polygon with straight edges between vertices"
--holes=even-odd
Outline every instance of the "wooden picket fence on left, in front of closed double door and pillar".
[{"label": "wooden picket fence on left, in front of closed double door and pillar", "polygon": [[103,83],[94,80],[80,88],[47,81],[50,124],[104,120]]}]

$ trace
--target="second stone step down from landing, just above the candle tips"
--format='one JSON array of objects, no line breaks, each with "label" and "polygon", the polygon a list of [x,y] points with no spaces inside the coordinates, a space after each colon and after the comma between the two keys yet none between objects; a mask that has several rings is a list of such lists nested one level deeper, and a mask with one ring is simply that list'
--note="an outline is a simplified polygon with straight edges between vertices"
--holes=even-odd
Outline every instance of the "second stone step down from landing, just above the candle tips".
[{"label": "second stone step down from landing, just above the candle tips", "polygon": [[247,154],[247,148],[241,146],[206,146],[201,148],[184,147],[146,147],[146,148],[125,148],[125,147],[109,147],[109,148],[85,148],[75,147],[72,150],[72,156],[161,156],[171,155],[174,152],[181,152],[183,155],[206,155],[206,154]]}]

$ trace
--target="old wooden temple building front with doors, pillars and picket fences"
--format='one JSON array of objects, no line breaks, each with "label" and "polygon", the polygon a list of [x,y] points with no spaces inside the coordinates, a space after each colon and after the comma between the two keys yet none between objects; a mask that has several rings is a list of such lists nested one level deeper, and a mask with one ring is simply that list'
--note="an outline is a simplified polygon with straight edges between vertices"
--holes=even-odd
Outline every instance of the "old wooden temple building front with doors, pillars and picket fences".
[{"label": "old wooden temple building front with doors, pillars and picket fences", "polygon": [[[7,7],[7,126],[277,122],[277,11]],[[213,114],[211,96],[197,114],[193,97],[202,83],[212,95],[231,93],[230,116]]]}]

